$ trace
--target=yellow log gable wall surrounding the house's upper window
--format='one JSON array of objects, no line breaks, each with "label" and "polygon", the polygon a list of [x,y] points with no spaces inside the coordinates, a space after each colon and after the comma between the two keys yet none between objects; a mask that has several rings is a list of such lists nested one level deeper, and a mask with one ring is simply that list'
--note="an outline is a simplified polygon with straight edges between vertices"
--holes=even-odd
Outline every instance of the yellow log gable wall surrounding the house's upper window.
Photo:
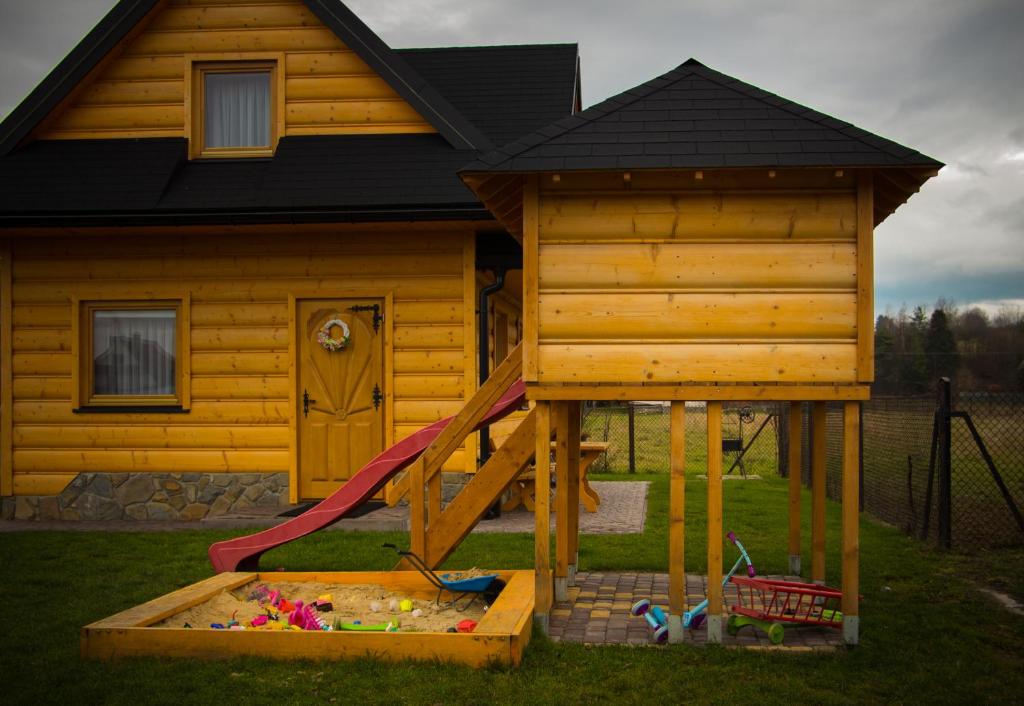
[{"label": "yellow log gable wall surrounding the house's upper window", "polygon": [[301,2],[170,0],[40,136],[181,137],[186,54],[284,52],[287,135],[434,132]]}]

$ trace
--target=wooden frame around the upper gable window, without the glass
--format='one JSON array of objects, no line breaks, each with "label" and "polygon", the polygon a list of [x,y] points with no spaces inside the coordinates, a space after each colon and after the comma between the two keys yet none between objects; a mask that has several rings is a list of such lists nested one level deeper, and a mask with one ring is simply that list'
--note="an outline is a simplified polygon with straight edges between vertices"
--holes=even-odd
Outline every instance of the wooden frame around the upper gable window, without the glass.
[{"label": "wooden frame around the upper gable window, without the glass", "polygon": [[[206,147],[206,75],[270,75],[270,144],[267,148]],[[285,55],[283,53],[220,53],[185,56],[185,138],[189,159],[273,157],[285,134]]]}]

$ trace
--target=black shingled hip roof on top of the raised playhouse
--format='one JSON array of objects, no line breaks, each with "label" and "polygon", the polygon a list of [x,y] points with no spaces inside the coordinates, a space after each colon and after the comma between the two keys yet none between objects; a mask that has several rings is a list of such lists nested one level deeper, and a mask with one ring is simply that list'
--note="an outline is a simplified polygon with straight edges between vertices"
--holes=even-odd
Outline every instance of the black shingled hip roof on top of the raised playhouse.
[{"label": "black shingled hip roof on top of the raised playhouse", "polygon": [[463,171],[822,166],[942,164],[691,58]]}]

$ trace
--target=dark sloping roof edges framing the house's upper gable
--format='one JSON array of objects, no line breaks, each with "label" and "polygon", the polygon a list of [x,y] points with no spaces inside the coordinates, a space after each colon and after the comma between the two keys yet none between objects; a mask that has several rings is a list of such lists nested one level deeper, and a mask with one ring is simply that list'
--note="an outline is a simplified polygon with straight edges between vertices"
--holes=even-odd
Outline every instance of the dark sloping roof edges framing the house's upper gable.
[{"label": "dark sloping roof edges framing the house's upper gable", "polygon": [[[120,0],[78,46],[0,123],[0,155],[9,154],[162,0]],[[340,0],[303,0],[309,10],[457,150],[494,146],[452,103]]]}]

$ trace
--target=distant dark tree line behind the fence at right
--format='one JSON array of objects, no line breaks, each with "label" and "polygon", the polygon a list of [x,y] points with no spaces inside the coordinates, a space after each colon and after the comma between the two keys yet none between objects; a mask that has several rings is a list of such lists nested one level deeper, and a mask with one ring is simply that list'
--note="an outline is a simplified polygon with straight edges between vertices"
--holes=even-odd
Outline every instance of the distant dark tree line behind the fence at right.
[{"label": "distant dark tree line behind the fence at right", "polygon": [[1024,391],[1024,309],[989,316],[948,300],[886,313],[874,324],[874,394],[919,394],[940,377],[957,389]]}]

